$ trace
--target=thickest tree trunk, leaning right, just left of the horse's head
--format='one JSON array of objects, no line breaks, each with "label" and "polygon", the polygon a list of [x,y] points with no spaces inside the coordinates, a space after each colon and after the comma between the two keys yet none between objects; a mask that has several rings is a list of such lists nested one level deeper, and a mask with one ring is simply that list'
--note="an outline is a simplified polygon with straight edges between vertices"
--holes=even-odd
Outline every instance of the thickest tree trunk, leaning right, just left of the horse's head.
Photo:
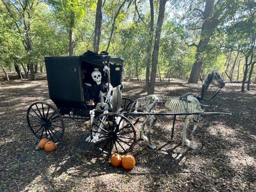
[{"label": "thickest tree trunk, leaning right, just left of the horse's head", "polygon": [[203,56],[201,55],[206,50],[210,37],[213,35],[214,29],[219,24],[216,18],[211,18],[210,14],[214,8],[214,0],[206,0],[205,10],[203,12],[203,26],[201,31],[200,41],[197,45],[195,62],[193,64],[188,83],[197,83],[200,71],[203,64]]}]

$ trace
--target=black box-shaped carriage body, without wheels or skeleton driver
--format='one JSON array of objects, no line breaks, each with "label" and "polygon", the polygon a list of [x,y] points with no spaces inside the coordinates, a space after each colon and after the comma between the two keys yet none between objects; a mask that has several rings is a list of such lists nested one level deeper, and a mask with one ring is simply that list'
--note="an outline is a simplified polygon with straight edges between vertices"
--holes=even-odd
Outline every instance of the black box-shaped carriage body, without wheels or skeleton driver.
[{"label": "black box-shaped carriage body, without wheels or skeleton driver", "polygon": [[[61,114],[69,114],[70,111],[73,111],[79,116],[90,116],[89,110],[95,106],[86,105],[84,83],[93,83],[91,77],[93,71],[101,72],[101,81],[107,83],[108,74],[103,71],[105,65],[110,68],[112,86],[116,87],[122,84],[124,60],[121,57],[86,53],[81,56],[45,57],[49,97]],[[86,73],[83,74],[82,69]]]}]

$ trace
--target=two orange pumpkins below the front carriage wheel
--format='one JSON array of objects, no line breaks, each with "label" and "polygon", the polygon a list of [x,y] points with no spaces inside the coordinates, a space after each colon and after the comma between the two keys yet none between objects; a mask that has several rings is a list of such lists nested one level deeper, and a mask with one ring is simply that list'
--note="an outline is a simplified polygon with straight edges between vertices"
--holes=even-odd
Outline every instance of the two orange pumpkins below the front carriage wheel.
[{"label": "two orange pumpkins below the front carriage wheel", "polygon": [[125,169],[132,169],[135,166],[135,158],[132,155],[121,156],[118,153],[113,154],[110,157],[110,163],[114,167],[119,167],[122,164],[122,167]]}]

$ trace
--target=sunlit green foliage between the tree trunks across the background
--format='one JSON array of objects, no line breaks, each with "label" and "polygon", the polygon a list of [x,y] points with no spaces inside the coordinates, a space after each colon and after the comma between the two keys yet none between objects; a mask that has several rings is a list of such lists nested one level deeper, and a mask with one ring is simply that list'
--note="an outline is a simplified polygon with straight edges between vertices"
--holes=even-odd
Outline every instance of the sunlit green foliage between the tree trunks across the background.
[{"label": "sunlit green foliage between the tree trunks across the background", "polygon": [[[31,1],[31,0],[29,0]],[[33,50],[27,53],[24,48],[24,30],[19,31],[16,24],[21,24],[15,8],[11,7],[13,18],[0,0],[0,63],[9,69],[13,61],[19,58],[19,64],[26,64],[32,59],[34,64],[44,65],[44,56],[67,55],[69,49],[69,30],[73,27],[74,54],[83,54],[93,49],[93,36],[97,0],[47,0],[35,1],[30,35],[33,39]],[[18,9],[18,0],[11,0]],[[31,1],[32,2],[32,1]],[[111,24],[115,13],[123,0],[103,1],[103,18],[99,49],[105,50],[110,37]],[[187,78],[195,61],[196,47],[200,36],[210,36],[207,48],[202,50],[202,76],[211,69],[223,72],[227,50],[239,49],[248,52],[252,37],[255,36],[255,2],[253,0],[221,0],[218,1],[211,18],[218,15],[219,25],[213,32],[201,34],[201,30],[189,28],[202,27],[200,11],[204,10],[205,0],[169,1],[162,26],[158,68],[161,77],[174,74],[176,77]],[[125,61],[126,75],[145,79],[147,62],[147,43],[149,38],[150,7],[147,0],[127,1],[116,18],[114,33],[111,38],[110,54],[120,55]],[[158,2],[154,1],[157,23]],[[138,16],[140,14],[140,17]],[[71,26],[71,21],[74,24]],[[16,24],[15,24],[16,22]],[[210,35],[209,35],[210,34]],[[225,49],[223,47],[228,47]],[[242,59],[243,61],[243,59]],[[232,62],[234,60],[232,59]],[[237,66],[235,66],[237,69]],[[240,67],[243,69],[243,66]]]}]

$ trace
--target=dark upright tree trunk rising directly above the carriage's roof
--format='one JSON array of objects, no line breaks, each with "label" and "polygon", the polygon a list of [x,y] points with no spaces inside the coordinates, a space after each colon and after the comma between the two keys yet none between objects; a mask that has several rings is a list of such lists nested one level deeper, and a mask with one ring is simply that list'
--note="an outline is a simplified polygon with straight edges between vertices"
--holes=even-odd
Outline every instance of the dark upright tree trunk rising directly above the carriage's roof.
[{"label": "dark upright tree trunk rising directly above the carriage's roof", "polygon": [[94,28],[94,40],[93,40],[93,51],[98,53],[100,34],[101,34],[101,23],[102,23],[102,0],[97,2],[97,10],[95,17],[95,28]]}]

